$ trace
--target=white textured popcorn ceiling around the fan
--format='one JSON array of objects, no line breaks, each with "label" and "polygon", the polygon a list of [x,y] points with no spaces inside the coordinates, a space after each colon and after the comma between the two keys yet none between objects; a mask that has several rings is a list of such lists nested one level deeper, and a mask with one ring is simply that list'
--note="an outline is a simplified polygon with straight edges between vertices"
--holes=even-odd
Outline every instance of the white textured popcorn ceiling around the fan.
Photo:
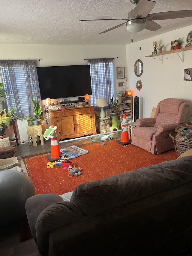
[{"label": "white textured popcorn ceiling around the fan", "polygon": [[[1,44],[130,44],[126,26],[99,35],[121,20],[84,21],[102,16],[127,18],[134,8],[129,0],[0,0]],[[191,0],[156,0],[151,13],[191,10]],[[144,29],[141,39],[192,25],[192,17],[160,20],[161,29]],[[140,33],[133,34],[139,41]]]}]

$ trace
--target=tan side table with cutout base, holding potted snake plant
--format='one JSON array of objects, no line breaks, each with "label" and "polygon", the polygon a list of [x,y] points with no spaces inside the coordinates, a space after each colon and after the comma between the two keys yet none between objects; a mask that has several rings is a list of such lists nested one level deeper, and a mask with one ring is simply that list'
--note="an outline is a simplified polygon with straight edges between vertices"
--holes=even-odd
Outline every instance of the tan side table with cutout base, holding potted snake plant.
[{"label": "tan side table with cutout base, holding potted snake plant", "polygon": [[29,140],[29,145],[31,145],[30,137],[32,138],[32,145],[37,146],[37,136],[39,136],[39,140],[41,140],[41,145],[44,145],[44,137],[43,134],[45,132],[45,125],[32,125],[27,126],[27,135]]}]

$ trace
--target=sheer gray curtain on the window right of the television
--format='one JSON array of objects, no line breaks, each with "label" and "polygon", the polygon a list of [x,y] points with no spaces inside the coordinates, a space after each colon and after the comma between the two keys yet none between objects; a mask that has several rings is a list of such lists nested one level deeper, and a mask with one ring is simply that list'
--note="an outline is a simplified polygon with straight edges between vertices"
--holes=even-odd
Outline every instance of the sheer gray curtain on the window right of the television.
[{"label": "sheer gray curtain on the window right of the television", "polygon": [[[110,108],[110,98],[114,95],[114,72],[113,72],[113,58],[104,59],[88,59],[91,72],[91,104],[96,106],[96,100],[106,98],[108,107]],[[96,108],[100,111],[100,108]]]}]

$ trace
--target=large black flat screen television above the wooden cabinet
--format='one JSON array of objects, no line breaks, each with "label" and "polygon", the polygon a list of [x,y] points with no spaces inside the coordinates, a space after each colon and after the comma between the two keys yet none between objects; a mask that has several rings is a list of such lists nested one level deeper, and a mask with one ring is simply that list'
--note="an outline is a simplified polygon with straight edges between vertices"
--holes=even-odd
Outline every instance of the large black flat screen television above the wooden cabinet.
[{"label": "large black flat screen television above the wooden cabinet", "polygon": [[41,99],[91,95],[89,65],[37,67]]}]

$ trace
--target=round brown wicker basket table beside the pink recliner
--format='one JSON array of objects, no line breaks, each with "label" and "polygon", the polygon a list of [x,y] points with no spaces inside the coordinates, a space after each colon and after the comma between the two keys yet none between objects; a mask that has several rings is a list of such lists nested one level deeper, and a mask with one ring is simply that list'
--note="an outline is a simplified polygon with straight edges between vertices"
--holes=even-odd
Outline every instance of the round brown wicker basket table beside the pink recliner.
[{"label": "round brown wicker basket table beside the pink recliner", "polygon": [[186,126],[175,128],[175,132],[170,132],[169,136],[173,139],[177,155],[192,149],[192,133],[183,132]]}]

